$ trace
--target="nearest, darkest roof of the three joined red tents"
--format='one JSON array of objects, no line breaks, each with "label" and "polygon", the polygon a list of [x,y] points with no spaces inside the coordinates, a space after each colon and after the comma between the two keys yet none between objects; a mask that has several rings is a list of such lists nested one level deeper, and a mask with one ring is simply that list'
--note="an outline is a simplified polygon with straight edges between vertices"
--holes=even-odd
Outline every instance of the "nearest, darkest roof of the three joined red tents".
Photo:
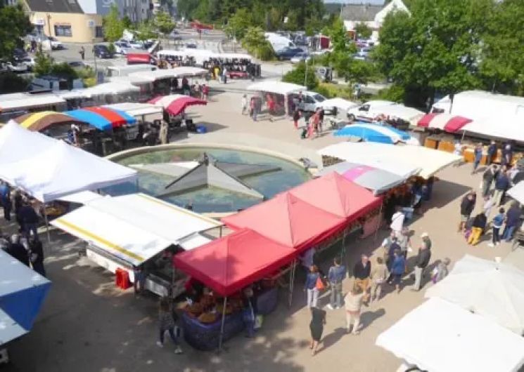
[{"label": "nearest, darkest roof of the three joined red tents", "polygon": [[174,265],[226,296],[279,270],[295,254],[293,248],[243,229],[175,255]]}]

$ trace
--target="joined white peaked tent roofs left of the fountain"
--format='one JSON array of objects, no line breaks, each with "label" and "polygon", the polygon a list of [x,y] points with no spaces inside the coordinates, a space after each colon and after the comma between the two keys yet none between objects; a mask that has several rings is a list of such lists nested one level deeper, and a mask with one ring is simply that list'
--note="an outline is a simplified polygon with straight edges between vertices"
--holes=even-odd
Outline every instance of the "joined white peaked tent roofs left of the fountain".
[{"label": "joined white peaked tent roofs left of the fountain", "polygon": [[[0,179],[39,201],[52,201],[136,178],[136,171],[131,168],[38,132],[16,130],[13,123],[0,129]],[[12,142],[4,146],[3,139],[8,138]]]}]

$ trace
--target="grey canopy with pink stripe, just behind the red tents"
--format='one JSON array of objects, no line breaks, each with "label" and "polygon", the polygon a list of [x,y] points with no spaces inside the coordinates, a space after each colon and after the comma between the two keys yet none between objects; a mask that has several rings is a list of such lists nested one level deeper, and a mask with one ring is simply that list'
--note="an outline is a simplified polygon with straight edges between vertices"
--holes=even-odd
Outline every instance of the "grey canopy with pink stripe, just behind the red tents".
[{"label": "grey canopy with pink stripe, just behind the red tents", "polygon": [[373,168],[372,166],[350,163],[348,161],[327,166],[317,173],[317,175],[326,175],[333,171],[339,173],[345,179],[373,191],[373,194],[376,195],[391,190],[398,185],[402,185],[402,183],[406,181],[406,178],[402,178],[395,173]]}]

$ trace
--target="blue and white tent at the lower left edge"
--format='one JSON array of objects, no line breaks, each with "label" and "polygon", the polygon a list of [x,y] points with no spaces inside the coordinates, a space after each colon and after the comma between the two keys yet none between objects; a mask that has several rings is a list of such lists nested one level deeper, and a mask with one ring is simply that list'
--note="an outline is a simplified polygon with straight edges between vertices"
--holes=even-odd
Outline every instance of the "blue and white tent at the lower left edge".
[{"label": "blue and white tent at the lower left edge", "polygon": [[49,287],[51,281],[0,250],[0,350],[31,331]]}]

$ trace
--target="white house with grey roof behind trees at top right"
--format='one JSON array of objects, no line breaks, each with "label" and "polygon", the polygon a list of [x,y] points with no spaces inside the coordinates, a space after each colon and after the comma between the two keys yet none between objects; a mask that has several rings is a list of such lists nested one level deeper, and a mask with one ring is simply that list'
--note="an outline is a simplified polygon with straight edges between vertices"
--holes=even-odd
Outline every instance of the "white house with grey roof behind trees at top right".
[{"label": "white house with grey roof behind trees at top right", "polygon": [[359,23],[364,23],[372,30],[371,39],[378,40],[378,30],[389,13],[404,11],[409,13],[402,0],[391,0],[385,5],[384,0],[352,0],[340,10],[340,18],[347,31],[353,31]]}]

